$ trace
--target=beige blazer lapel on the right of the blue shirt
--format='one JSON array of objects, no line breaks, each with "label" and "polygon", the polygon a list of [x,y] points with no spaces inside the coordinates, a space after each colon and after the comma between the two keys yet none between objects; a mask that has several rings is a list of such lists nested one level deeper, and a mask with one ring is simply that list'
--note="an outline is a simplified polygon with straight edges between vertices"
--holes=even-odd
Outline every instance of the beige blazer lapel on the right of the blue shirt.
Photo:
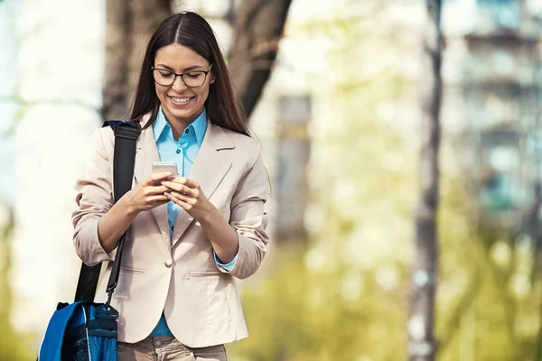
[{"label": "beige blazer lapel on the right of the blue shirt", "polygon": [[[194,160],[192,170],[187,178],[200,183],[203,194],[210,199],[214,191],[224,179],[231,168],[231,162],[223,149],[233,149],[235,143],[220,126],[207,124],[207,132],[201,143],[200,151]],[[181,239],[186,228],[192,223],[193,218],[182,208],[173,228],[173,245]]]}]

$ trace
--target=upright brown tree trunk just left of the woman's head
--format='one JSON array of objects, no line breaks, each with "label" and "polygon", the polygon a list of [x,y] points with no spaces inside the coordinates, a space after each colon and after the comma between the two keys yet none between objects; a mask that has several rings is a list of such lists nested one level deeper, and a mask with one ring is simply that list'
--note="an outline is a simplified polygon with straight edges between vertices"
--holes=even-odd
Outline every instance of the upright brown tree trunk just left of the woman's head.
[{"label": "upright brown tree trunk just left of the woman's head", "polygon": [[171,14],[170,0],[107,0],[102,116],[127,119],[146,43]]}]

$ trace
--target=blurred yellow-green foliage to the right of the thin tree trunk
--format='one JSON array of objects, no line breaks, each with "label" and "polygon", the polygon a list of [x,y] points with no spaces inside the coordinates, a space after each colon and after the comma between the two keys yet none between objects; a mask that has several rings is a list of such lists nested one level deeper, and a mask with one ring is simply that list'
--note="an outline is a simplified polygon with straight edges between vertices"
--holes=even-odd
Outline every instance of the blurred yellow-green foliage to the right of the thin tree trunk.
[{"label": "blurred yellow-green foliage to the right of the thin tree trunk", "polygon": [[445,185],[439,359],[537,361],[542,283],[531,240],[476,224],[464,187],[457,181]]}]

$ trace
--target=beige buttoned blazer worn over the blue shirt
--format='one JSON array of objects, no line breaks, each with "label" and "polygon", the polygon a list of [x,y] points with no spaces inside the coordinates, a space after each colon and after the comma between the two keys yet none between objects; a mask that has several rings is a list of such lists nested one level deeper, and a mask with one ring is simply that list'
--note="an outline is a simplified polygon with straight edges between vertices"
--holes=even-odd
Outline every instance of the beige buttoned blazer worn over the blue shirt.
[{"label": "beige buttoned blazer worn over the blue shirt", "polygon": [[[145,116],[142,125],[150,116]],[[95,150],[76,189],[73,242],[85,264],[113,261],[98,241],[98,221],[113,205],[111,128],[96,131]],[[139,136],[134,185],[151,176],[158,161],[153,127]],[[182,209],[173,229],[166,205],[140,213],[129,228],[112,306],[120,313],[118,340],[135,343],[146,338],[164,311],[173,335],[189,347],[208,347],[248,337],[234,278],[257,271],[266,254],[268,182],[256,140],[208,124],[189,178],[220,209],[238,233],[238,260],[231,272],[214,261],[201,225]],[[96,301],[106,301],[111,263],[98,286]]]}]

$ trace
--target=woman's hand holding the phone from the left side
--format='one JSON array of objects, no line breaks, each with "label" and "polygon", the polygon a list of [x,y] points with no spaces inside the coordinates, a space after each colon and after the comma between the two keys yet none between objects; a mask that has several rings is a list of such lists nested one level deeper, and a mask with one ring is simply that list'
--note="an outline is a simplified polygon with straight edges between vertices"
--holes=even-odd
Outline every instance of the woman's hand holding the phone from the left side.
[{"label": "woman's hand holding the phone from the left side", "polygon": [[169,199],[165,197],[164,192],[168,189],[161,183],[164,180],[173,180],[173,178],[173,174],[169,171],[156,173],[149,179],[139,183],[134,189],[126,192],[123,198],[127,203],[129,212],[137,214],[167,203]]}]

